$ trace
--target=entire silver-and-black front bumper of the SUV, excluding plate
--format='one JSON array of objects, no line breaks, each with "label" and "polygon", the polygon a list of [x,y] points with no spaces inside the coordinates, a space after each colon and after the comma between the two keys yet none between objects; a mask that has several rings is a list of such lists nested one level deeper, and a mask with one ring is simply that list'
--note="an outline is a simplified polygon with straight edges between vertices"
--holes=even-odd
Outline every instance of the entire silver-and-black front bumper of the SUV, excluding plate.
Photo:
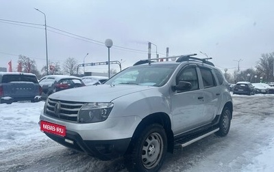
[{"label": "entire silver-and-black front bumper of the SUV, excluding plate", "polygon": [[125,154],[140,120],[135,116],[109,117],[102,122],[79,124],[49,117],[43,112],[40,115],[40,121],[66,127],[65,137],[45,132],[53,141],[101,160],[110,160]]}]

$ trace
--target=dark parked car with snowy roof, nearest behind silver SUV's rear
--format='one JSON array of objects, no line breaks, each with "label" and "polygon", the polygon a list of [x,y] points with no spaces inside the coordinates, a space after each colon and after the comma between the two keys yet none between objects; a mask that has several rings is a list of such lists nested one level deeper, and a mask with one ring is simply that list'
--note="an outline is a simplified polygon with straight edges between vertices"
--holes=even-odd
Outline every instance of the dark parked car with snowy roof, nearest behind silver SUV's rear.
[{"label": "dark parked car with snowy roof, nearest behind silver SUV's rear", "polygon": [[255,89],[250,82],[240,81],[234,86],[233,94],[245,94],[250,96],[255,94]]}]

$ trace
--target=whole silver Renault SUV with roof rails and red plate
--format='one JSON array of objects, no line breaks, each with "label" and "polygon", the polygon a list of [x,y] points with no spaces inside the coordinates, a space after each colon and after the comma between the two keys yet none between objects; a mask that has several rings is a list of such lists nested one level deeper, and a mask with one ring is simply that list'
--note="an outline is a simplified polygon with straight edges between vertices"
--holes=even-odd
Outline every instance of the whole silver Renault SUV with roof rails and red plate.
[{"label": "whole silver Renault SUV with roof rails and red plate", "polygon": [[174,147],[227,135],[233,111],[228,88],[208,59],[141,60],[103,85],[51,94],[40,130],[101,160],[124,156],[129,171],[158,171]]}]

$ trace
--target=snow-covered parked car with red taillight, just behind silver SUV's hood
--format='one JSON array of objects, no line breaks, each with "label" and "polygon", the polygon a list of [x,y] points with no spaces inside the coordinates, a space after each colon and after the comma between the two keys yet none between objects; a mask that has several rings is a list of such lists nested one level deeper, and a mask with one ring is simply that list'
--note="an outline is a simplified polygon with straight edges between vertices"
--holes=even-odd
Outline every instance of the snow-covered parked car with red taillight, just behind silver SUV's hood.
[{"label": "snow-covered parked car with red taillight, just behind silver SUV's hood", "polygon": [[85,86],[81,78],[69,75],[47,75],[40,79],[39,84],[42,87],[42,99],[57,91]]}]

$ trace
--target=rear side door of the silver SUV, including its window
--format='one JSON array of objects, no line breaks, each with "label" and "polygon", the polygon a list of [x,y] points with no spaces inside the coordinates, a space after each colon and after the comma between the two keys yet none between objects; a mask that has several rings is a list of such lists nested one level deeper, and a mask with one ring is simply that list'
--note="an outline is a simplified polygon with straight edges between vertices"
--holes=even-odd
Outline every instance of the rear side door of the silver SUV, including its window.
[{"label": "rear side door of the silver SUV, including its window", "polygon": [[210,123],[216,117],[221,102],[221,89],[217,85],[216,78],[211,68],[206,66],[199,66],[201,72],[201,80],[203,87],[203,122],[204,124]]}]

